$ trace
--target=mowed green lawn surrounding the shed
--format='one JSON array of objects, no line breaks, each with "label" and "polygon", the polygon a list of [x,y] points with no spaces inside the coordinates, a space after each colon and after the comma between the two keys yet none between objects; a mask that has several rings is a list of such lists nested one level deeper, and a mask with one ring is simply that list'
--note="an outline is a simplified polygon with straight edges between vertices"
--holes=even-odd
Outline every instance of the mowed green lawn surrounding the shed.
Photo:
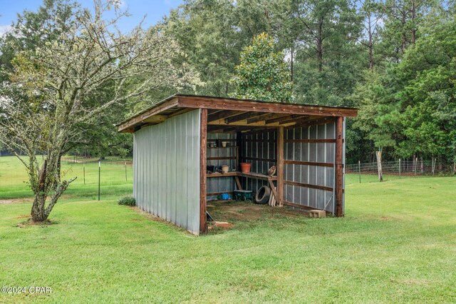
[{"label": "mowed green lawn surrounding the shed", "polygon": [[349,176],[345,218],[276,214],[199,237],[118,206],[131,191],[118,180],[100,202],[73,185],[53,225],[21,228],[31,203],[0,203],[0,285],[52,288],[0,303],[456,302],[454,177]]}]

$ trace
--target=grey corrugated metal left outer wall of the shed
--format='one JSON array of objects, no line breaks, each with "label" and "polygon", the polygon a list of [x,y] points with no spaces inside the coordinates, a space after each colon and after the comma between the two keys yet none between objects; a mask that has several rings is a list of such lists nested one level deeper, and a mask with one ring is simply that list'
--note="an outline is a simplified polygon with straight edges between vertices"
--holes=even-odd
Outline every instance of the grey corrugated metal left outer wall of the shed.
[{"label": "grey corrugated metal left outer wall of the shed", "polygon": [[139,208],[199,233],[200,110],[134,134],[133,196]]}]

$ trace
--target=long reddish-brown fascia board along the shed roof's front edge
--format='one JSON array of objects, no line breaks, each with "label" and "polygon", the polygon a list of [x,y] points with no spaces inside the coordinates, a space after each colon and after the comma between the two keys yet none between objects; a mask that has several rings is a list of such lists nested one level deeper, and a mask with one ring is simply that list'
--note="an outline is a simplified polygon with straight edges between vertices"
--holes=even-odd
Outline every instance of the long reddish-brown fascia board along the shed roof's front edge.
[{"label": "long reddish-brown fascia board along the shed roof's front edge", "polygon": [[328,106],[309,106],[289,103],[273,103],[259,101],[242,101],[229,98],[199,97],[177,95],[181,108],[211,108],[222,110],[289,113],[319,116],[349,116],[358,113],[354,108],[337,108]]}]

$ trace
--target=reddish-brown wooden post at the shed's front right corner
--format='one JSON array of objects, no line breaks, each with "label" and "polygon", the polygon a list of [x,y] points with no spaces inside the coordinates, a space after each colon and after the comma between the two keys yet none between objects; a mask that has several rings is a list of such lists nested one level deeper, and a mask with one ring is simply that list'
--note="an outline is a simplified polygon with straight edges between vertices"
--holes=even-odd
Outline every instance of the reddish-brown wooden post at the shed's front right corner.
[{"label": "reddish-brown wooden post at the shed's front right corner", "polygon": [[336,216],[343,216],[343,117],[336,121]]}]

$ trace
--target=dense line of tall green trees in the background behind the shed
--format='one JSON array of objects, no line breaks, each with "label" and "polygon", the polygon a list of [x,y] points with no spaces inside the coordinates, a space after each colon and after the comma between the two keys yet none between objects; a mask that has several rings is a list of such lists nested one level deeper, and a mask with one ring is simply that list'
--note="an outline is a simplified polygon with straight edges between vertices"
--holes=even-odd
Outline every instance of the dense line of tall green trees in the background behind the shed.
[{"label": "dense line of tall green trees in the background behind the shed", "polygon": [[[1,41],[2,71],[11,69],[11,40],[16,49],[33,49],[58,34],[46,20],[71,15],[74,8],[62,4],[46,0],[40,11],[19,16],[14,30],[20,35]],[[235,95],[230,80],[242,50],[266,33],[274,39],[274,51],[285,54],[292,102],[360,108],[359,117],[347,121],[349,163],[372,161],[379,149],[384,158],[452,163],[455,9],[455,1],[438,0],[185,0],[153,29],[177,41],[183,52],[175,56],[175,64],[191,66],[201,81],[149,93],[156,100],[176,91]],[[97,98],[110,93],[107,87]],[[149,104],[145,100],[113,108],[100,118],[99,128],[90,129],[91,140],[100,143],[97,148],[76,148],[103,154],[118,147],[122,151],[115,153],[128,153],[131,139],[114,135],[111,123]]]}]

